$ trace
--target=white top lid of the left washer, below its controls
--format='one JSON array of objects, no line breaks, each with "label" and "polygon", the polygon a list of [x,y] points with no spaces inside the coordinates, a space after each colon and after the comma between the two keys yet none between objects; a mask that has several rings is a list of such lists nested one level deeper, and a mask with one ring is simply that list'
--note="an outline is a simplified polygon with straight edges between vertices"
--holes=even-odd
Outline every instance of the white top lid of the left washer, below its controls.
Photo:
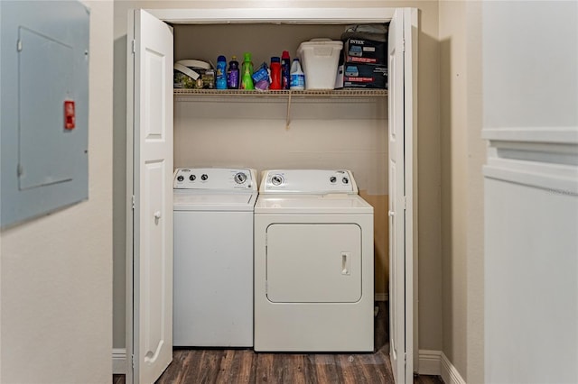
[{"label": "white top lid of the left washer, below its controls", "polygon": [[253,211],[256,194],[173,194],[175,211]]}]

